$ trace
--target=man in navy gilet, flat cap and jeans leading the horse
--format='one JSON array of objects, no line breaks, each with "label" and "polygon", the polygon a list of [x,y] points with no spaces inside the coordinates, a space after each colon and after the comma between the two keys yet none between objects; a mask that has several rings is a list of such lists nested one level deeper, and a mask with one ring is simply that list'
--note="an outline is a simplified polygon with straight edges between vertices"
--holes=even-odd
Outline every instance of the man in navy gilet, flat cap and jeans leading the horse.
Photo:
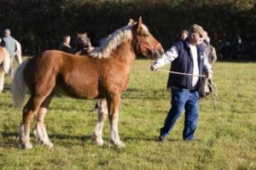
[{"label": "man in navy gilet, flat cap and jeans leading the horse", "polygon": [[[177,42],[163,54],[162,58],[154,61],[151,71],[157,71],[161,66],[171,64],[171,71],[187,73],[191,75],[202,75],[207,72],[207,77],[212,77],[212,67],[207,61],[206,51],[200,43],[204,36],[201,26],[192,25],[189,28],[188,37]],[[183,140],[193,140],[198,120],[199,88],[201,88],[202,77],[169,74],[167,88],[172,90],[172,107],[166,116],[164,127],[160,128],[160,141],[165,141],[170,134],[177,118],[185,110],[183,128]]]}]

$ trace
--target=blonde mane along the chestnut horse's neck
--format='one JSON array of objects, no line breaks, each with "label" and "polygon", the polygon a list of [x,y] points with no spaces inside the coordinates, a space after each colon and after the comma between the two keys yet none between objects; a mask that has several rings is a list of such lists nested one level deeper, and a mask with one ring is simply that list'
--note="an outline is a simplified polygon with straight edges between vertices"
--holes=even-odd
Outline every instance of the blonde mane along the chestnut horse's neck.
[{"label": "blonde mane along the chestnut horse's neck", "polygon": [[[134,26],[134,25],[132,25]],[[106,59],[110,56],[113,49],[117,48],[122,42],[126,42],[131,39],[131,25],[124,26],[113,34],[107,37],[106,41],[103,42],[102,46],[95,48],[89,55],[97,59]]]}]

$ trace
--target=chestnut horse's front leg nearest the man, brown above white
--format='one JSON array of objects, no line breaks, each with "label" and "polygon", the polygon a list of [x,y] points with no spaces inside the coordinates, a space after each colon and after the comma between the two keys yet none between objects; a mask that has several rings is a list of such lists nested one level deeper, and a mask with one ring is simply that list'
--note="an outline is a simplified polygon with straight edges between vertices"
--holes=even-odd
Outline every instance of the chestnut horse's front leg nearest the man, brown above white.
[{"label": "chestnut horse's front leg nearest the man, brown above white", "polygon": [[119,138],[119,105],[120,95],[112,94],[108,100],[108,120],[110,125],[110,139],[109,144],[117,147],[125,147],[125,144]]}]

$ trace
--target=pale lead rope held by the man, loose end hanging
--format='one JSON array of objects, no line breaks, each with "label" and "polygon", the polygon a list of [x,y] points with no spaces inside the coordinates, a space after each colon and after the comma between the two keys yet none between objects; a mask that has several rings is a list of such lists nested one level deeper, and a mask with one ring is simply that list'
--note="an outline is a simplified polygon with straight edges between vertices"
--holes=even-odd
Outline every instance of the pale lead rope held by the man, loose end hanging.
[{"label": "pale lead rope held by the man, loose end hanging", "polygon": [[[177,72],[177,71],[166,71],[166,70],[162,70],[162,69],[158,69],[158,71],[165,71],[165,72],[169,72],[169,73],[172,73],[172,74],[185,75],[185,76],[191,76],[191,77],[204,77],[204,78],[207,78],[207,76],[205,76],[205,75],[194,75],[194,74]],[[208,79],[207,79],[207,84],[212,89],[212,90],[210,90],[210,93],[212,94],[213,107],[214,107],[214,109],[216,109],[216,100],[218,99],[218,89],[215,86],[215,84],[212,81],[210,83]]]}]

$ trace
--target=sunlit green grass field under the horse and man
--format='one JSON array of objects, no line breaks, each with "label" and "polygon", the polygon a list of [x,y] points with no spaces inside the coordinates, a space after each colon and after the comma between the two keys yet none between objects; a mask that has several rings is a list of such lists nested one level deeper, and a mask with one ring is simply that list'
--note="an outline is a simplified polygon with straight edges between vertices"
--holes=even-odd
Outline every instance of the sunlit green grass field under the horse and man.
[{"label": "sunlit green grass field under the horse and man", "polygon": [[181,116],[166,143],[157,139],[170,108],[168,75],[149,71],[149,65],[148,60],[136,61],[122,96],[122,149],[108,148],[108,122],[103,131],[106,145],[97,147],[90,140],[95,100],[57,97],[45,118],[55,147],[38,145],[31,135],[34,148],[21,150],[16,139],[21,109],[11,107],[7,78],[0,94],[0,169],[256,169],[256,63],[213,65],[217,108],[210,96],[201,99],[195,141],[182,140]]}]

